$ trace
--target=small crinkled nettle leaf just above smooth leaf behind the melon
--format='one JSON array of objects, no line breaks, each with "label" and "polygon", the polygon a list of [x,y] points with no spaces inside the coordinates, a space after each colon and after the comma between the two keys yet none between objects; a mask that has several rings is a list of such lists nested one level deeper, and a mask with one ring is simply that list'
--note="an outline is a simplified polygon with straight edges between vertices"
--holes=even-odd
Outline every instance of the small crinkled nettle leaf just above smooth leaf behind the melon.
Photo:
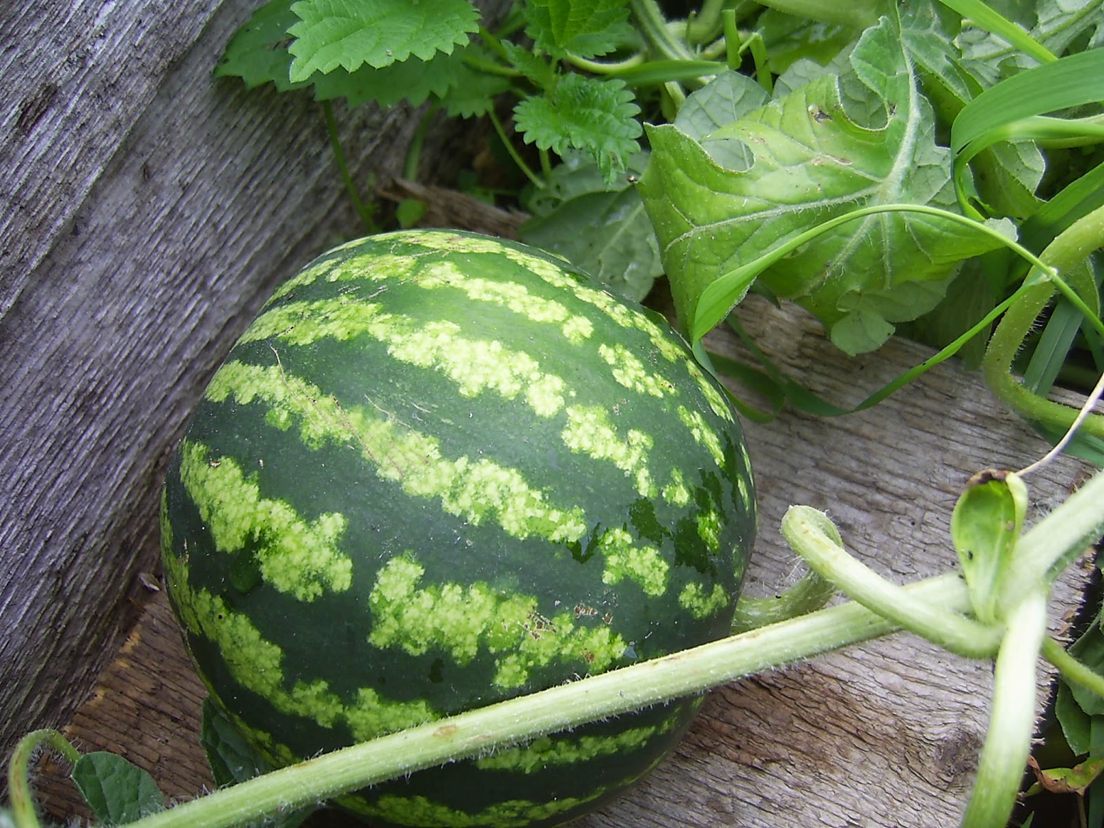
[{"label": "small crinkled nettle leaf just above smooth leaf behind the melon", "polygon": [[560,156],[581,149],[594,159],[603,178],[613,181],[640,149],[639,112],[624,81],[570,74],[544,95],[522,100],[513,114],[527,142]]}]

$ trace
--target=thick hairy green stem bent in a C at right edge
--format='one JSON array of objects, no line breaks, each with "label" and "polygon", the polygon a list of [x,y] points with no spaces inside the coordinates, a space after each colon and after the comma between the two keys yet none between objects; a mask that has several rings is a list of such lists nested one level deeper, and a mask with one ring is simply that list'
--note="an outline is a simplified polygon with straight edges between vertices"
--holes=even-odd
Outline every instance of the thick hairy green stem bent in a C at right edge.
[{"label": "thick hairy green stem bent in a C at right edge", "polygon": [[[1059,273],[1072,269],[1093,251],[1104,246],[1104,208],[1097,208],[1074,222],[1040,254]],[[992,392],[1009,407],[1029,421],[1069,428],[1078,410],[1032,393],[1012,375],[1012,361],[1047,307],[1058,283],[1047,279],[1022,289],[1020,298],[1006,311],[989,338],[981,371]],[[1100,323],[1100,320],[1096,320]],[[1104,437],[1104,416],[1091,415],[1081,424],[1086,434]]]}]

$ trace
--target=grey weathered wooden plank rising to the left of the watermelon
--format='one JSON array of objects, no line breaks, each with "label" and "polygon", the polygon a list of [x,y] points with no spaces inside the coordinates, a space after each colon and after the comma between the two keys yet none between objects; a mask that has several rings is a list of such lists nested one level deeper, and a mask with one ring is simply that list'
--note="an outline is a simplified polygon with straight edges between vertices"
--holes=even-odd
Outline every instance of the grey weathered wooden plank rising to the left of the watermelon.
[{"label": "grey weathered wooden plank rising to the left of the watermelon", "polygon": [[[256,4],[0,20],[0,755],[64,721],[125,635],[206,376],[276,283],[358,232],[318,105],[211,76]],[[336,108],[357,179],[396,174],[420,115]]]}]

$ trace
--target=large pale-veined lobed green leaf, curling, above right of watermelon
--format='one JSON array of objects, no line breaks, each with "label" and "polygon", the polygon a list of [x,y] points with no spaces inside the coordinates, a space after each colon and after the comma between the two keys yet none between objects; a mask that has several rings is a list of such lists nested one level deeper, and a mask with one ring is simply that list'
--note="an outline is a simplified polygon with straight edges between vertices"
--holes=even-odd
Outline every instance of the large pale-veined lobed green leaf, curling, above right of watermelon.
[{"label": "large pale-veined lobed green leaf, curling, above right of watermelon", "polygon": [[[826,220],[902,202],[957,211],[949,153],[935,142],[898,22],[868,29],[848,64],[867,109],[881,106],[883,126],[856,123],[843,84],[822,75],[702,140],[673,125],[649,128],[640,192],[683,329],[712,282]],[[853,96],[856,84],[847,87]],[[751,167],[728,169],[703,147],[731,139],[747,147]],[[819,317],[841,350],[859,353],[884,341],[893,322],[934,307],[959,263],[996,245],[949,220],[881,213],[818,236],[760,279]],[[889,298],[909,283],[927,284],[909,288],[904,301]]]}]

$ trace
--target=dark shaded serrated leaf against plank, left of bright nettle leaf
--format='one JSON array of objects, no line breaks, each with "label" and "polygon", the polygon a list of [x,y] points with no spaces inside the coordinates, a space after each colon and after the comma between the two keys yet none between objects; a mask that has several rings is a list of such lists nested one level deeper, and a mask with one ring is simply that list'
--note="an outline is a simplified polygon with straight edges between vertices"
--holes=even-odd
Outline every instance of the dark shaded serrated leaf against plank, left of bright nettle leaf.
[{"label": "dark shaded serrated leaf against plank, left of bright nettle leaf", "polygon": [[248,88],[273,83],[279,92],[306,86],[291,83],[291,54],[287,51],[291,35],[287,33],[299,20],[291,11],[295,0],[268,0],[243,25],[215,66],[215,77],[241,77]]}]

